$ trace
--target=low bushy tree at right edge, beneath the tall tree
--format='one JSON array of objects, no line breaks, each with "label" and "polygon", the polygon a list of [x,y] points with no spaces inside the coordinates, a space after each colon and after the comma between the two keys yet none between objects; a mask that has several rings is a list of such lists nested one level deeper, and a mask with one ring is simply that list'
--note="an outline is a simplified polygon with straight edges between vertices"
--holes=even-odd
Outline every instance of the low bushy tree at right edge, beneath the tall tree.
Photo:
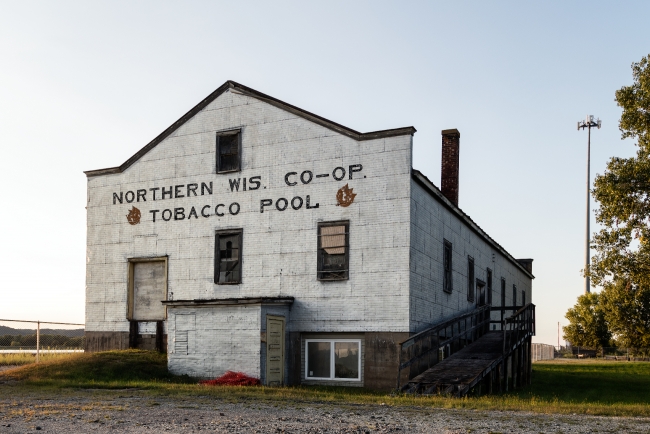
[{"label": "low bushy tree at right edge, beneath the tall tree", "polygon": [[623,280],[609,282],[600,293],[599,307],[618,345],[650,347],[650,289]]}]

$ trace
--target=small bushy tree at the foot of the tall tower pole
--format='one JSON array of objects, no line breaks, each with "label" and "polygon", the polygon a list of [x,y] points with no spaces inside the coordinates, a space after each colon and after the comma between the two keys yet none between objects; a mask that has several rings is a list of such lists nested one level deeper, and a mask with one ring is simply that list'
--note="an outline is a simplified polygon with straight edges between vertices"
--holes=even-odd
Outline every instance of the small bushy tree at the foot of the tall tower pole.
[{"label": "small bushy tree at the foot of the tall tower pole", "polygon": [[562,327],[565,340],[571,345],[589,348],[610,346],[611,333],[605,313],[599,305],[599,294],[592,292],[578,297],[578,302],[565,315],[569,325]]}]

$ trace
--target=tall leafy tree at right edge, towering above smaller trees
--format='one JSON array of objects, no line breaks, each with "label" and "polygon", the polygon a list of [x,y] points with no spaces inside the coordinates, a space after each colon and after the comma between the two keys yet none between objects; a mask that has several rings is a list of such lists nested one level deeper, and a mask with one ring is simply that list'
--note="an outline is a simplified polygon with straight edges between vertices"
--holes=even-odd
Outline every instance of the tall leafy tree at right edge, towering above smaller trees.
[{"label": "tall leafy tree at right edge, towering above smaller trees", "polygon": [[632,64],[634,83],[616,91],[623,109],[622,138],[637,139],[632,158],[613,157],[596,175],[596,221],[603,226],[592,246],[596,251],[586,272],[594,285],[616,281],[650,288],[650,55]]}]

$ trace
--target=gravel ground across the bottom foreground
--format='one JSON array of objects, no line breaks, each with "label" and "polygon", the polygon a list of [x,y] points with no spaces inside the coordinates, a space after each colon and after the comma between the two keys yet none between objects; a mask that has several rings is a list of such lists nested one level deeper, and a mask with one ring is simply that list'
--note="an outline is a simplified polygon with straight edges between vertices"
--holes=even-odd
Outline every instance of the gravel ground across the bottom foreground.
[{"label": "gravel ground across the bottom foreground", "polygon": [[79,391],[16,397],[0,385],[0,432],[648,433],[650,419]]}]

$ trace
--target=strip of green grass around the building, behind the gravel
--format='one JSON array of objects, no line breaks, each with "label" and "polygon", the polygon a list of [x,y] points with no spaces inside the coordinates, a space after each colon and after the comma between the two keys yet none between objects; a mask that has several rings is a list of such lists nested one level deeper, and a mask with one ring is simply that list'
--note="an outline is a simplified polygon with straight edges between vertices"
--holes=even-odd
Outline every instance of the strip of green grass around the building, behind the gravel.
[{"label": "strip of green grass around the building, behind the gravel", "polygon": [[533,384],[514,392],[470,398],[422,397],[343,387],[207,387],[167,372],[166,356],[109,351],[59,356],[0,372],[0,397],[136,388],[147,394],[214,396],[235,401],[385,404],[434,408],[518,410],[609,416],[650,416],[650,363],[551,361],[533,365]]}]

